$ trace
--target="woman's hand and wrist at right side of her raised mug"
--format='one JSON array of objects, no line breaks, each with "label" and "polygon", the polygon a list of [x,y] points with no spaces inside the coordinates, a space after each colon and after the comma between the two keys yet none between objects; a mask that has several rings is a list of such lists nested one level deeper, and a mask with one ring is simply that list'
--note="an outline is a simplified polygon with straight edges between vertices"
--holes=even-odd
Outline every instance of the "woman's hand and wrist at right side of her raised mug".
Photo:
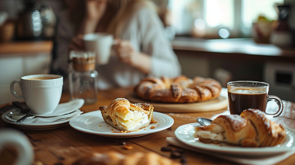
[{"label": "woman's hand and wrist at right side of her raised mug", "polygon": [[145,74],[150,71],[150,56],[137,52],[128,40],[115,39],[115,50],[120,61],[140,69]]}]

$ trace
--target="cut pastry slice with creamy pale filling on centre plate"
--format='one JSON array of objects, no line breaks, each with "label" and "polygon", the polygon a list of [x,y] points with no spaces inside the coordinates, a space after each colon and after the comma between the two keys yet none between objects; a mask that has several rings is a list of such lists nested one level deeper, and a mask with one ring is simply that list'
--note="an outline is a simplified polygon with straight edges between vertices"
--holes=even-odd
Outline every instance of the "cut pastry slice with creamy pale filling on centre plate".
[{"label": "cut pastry slice with creamy pale filling on centre plate", "polygon": [[118,98],[109,106],[100,106],[104,121],[110,126],[123,131],[137,131],[153,122],[154,107],[151,104],[132,104],[127,99]]}]

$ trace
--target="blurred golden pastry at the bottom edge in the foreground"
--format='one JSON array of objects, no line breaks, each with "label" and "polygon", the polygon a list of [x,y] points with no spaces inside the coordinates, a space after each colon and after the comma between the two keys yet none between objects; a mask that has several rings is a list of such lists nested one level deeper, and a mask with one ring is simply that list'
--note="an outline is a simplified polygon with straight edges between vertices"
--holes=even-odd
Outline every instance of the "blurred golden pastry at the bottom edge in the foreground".
[{"label": "blurred golden pastry at the bottom edge in the foreground", "polygon": [[181,165],[178,162],[172,161],[166,157],[160,156],[154,152],[142,153],[135,152],[130,155],[123,155],[115,151],[110,151],[104,154],[94,153],[85,156],[73,165]]}]

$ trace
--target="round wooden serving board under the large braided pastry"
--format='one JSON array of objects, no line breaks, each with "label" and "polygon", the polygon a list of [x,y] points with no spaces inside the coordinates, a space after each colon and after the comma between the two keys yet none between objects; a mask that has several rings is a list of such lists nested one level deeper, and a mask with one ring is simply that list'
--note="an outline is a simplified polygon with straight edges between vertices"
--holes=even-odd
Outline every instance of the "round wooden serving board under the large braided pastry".
[{"label": "round wooden serving board under the large braided pastry", "polygon": [[155,103],[139,99],[135,94],[130,93],[125,96],[131,103],[152,104],[158,112],[209,112],[227,108],[228,100],[223,96],[207,101],[194,103]]}]

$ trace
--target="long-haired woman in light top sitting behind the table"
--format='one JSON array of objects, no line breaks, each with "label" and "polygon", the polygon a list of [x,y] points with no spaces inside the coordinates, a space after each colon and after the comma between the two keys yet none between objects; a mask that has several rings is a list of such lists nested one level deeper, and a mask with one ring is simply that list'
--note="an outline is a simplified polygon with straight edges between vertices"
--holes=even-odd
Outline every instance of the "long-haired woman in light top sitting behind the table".
[{"label": "long-haired woman in light top sitting behind the table", "polygon": [[68,0],[68,4],[68,11],[60,16],[53,69],[66,71],[68,50],[83,50],[84,34],[108,32],[118,44],[109,64],[96,66],[100,89],[134,86],[146,76],[174,77],[181,73],[152,2]]}]

